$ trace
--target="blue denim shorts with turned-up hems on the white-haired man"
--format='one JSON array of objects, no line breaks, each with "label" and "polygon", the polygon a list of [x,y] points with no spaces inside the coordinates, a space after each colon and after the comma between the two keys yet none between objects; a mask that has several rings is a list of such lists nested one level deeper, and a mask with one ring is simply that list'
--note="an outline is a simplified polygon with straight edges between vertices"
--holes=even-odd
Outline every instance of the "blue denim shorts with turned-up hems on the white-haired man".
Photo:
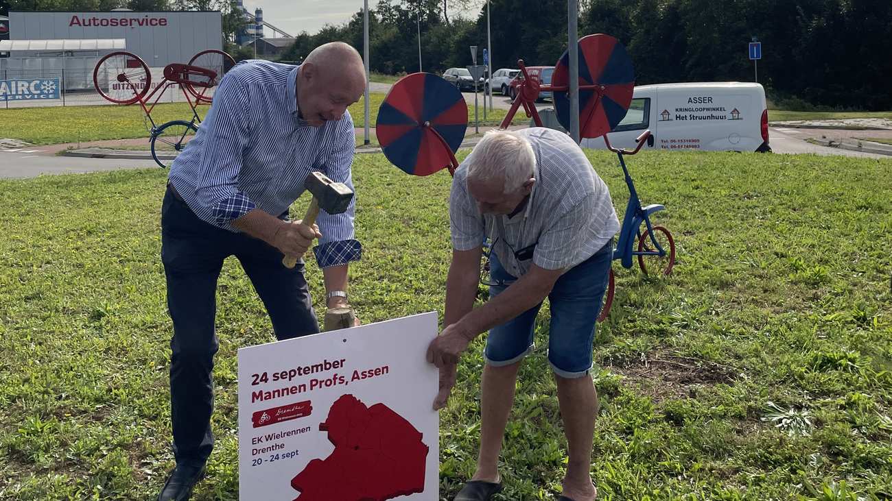
[{"label": "blue denim shorts with turned-up hems on the white-haired man", "polygon": [[[549,365],[561,377],[582,377],[591,369],[596,322],[604,292],[607,291],[612,260],[611,239],[591,258],[561,275],[549,293]],[[516,280],[501,267],[495,252],[490,255],[490,277],[496,282],[508,284]],[[490,299],[508,286],[492,285]],[[533,327],[541,306],[539,303],[490,331],[484,352],[489,365],[511,365],[533,351]]]}]

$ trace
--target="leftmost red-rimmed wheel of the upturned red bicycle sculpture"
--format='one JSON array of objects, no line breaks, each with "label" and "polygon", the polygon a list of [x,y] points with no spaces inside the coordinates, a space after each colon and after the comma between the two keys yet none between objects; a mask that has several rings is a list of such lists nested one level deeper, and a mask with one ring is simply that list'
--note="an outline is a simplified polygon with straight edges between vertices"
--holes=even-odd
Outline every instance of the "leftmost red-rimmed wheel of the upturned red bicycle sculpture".
[{"label": "leftmost red-rimmed wheel of the upturned red bicycle sculpture", "polygon": [[138,103],[151,85],[152,73],[135,53],[110,53],[100,59],[93,70],[96,92],[111,103]]}]

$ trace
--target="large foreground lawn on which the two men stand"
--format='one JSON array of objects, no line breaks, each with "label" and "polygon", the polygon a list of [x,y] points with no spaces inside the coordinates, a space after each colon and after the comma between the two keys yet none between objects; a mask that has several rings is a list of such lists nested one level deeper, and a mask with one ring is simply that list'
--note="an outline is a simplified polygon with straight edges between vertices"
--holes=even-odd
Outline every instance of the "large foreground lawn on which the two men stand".
[{"label": "large foreground lawn on which the two men stand", "polygon": [[[615,157],[591,159],[623,208]],[[615,264],[593,372],[601,499],[892,497],[892,161],[642,152],[630,168],[643,201],[665,204],[654,219],[673,231],[678,264],[665,279]],[[442,314],[449,176],[406,177],[368,154],[354,179],[359,315]],[[157,168],[0,181],[0,498],[161,488],[173,464],[164,185]],[[321,274],[308,270],[321,306]],[[218,442],[199,500],[237,497],[235,351],[272,340],[235,260],[217,326]],[[474,469],[482,346],[441,413],[442,498]],[[502,501],[558,493],[566,449],[544,355],[521,372]]]}]

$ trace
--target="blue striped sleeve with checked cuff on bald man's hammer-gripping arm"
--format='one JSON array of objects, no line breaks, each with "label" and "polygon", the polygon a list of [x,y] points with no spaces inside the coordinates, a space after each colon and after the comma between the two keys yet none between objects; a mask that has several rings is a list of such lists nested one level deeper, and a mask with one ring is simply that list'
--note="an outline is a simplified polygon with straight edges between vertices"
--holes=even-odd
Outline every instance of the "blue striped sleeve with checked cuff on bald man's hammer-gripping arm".
[{"label": "blue striped sleeve with checked cuff on bald man's hammer-gripping arm", "polygon": [[227,74],[214,93],[211,111],[202,123],[205,134],[200,172],[195,187],[199,203],[207,210],[196,211],[210,214],[209,223],[226,227],[230,221],[241,218],[255,209],[255,204],[238,187],[244,151],[251,132],[247,89]]}]

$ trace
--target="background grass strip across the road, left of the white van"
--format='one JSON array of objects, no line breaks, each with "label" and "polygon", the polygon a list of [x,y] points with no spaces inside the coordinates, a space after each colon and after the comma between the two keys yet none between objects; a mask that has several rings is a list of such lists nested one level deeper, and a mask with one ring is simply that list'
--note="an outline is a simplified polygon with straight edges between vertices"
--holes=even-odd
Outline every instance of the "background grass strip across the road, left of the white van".
[{"label": "background grass strip across the road, left of the white van", "polygon": [[[369,94],[371,111],[370,127],[375,127],[378,108],[384,101],[384,94]],[[208,111],[207,106],[198,108],[200,115]],[[356,127],[363,127],[366,119],[365,97],[352,104],[350,114]],[[488,116],[489,125],[497,125],[505,119],[506,111],[495,110]],[[513,123],[529,122],[524,114],[518,113]],[[161,103],[152,113],[155,123],[161,125],[173,119],[189,119],[192,111],[187,103]],[[474,106],[467,111],[469,120],[474,119]],[[19,108],[0,110],[0,138],[21,139],[31,144],[62,144],[106,139],[129,139],[148,137],[151,124],[139,105],[108,106],[69,106],[51,108]]]}]

